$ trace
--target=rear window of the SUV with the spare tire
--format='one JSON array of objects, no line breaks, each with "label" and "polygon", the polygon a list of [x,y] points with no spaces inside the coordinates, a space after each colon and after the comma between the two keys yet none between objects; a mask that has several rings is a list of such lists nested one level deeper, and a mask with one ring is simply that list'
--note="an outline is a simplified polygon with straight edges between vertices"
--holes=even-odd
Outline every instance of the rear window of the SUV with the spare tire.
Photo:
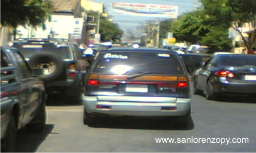
[{"label": "rear window of the SUV with the spare tire", "polygon": [[67,43],[55,45],[54,43],[13,43],[13,47],[17,48],[25,58],[30,58],[37,52],[52,52],[61,55],[62,58],[71,58]]}]

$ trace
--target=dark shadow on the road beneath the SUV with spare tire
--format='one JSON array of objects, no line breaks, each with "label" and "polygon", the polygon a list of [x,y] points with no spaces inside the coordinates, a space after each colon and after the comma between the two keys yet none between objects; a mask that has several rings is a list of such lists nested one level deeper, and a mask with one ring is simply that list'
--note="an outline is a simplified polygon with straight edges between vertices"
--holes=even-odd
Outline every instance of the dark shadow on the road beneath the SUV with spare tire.
[{"label": "dark shadow on the road beneath the SUV with spare tire", "polygon": [[71,96],[63,94],[48,95],[47,106],[78,106],[81,102],[74,101]]}]

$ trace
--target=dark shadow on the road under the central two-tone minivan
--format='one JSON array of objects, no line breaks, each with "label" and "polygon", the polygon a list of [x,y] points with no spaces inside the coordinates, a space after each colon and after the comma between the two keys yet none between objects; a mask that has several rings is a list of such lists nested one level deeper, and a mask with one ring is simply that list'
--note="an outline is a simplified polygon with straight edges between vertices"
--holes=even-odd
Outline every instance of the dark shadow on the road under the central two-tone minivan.
[{"label": "dark shadow on the road under the central two-tone minivan", "polygon": [[192,130],[194,121],[187,127],[176,124],[173,119],[141,118],[141,117],[100,117],[95,124],[90,125],[94,128],[123,128],[123,129],[153,129],[153,130]]}]

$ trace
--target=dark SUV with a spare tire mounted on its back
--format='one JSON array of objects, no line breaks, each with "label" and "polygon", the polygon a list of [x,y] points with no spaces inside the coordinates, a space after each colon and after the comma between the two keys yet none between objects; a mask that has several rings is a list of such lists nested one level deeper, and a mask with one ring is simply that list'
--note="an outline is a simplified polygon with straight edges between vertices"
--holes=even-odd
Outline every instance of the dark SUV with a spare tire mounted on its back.
[{"label": "dark SUV with a spare tire mounted on its back", "polygon": [[48,94],[65,94],[81,102],[82,80],[89,65],[76,43],[68,39],[19,38],[8,44],[17,48],[31,68],[43,69]]}]

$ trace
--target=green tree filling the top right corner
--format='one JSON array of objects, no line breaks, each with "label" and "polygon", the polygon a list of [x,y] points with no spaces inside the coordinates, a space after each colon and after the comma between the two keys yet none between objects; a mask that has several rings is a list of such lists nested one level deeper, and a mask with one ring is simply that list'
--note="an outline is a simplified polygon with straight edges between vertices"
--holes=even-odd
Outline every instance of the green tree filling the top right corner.
[{"label": "green tree filling the top right corner", "polygon": [[[256,23],[256,1],[252,0],[201,0],[207,14],[208,24],[211,26],[232,27],[242,37],[246,47],[251,48],[252,41],[248,41],[239,29],[248,22]],[[256,28],[254,28],[256,30]]]}]

